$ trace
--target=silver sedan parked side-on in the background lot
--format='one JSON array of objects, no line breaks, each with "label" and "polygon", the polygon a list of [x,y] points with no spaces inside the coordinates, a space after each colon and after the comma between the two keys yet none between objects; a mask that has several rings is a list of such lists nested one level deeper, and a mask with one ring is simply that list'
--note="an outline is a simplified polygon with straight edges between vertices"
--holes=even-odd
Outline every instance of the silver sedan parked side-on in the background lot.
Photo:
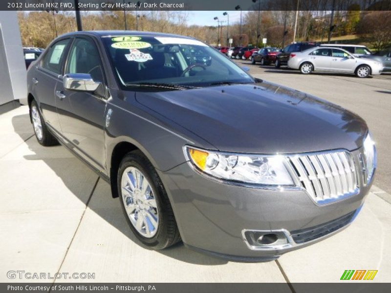
[{"label": "silver sedan parked side-on in the background lot", "polygon": [[379,75],[383,71],[383,63],[381,62],[354,57],[341,48],[324,46],[291,53],[288,67],[299,69],[303,74],[309,74],[312,71],[325,71],[351,73],[360,78]]}]

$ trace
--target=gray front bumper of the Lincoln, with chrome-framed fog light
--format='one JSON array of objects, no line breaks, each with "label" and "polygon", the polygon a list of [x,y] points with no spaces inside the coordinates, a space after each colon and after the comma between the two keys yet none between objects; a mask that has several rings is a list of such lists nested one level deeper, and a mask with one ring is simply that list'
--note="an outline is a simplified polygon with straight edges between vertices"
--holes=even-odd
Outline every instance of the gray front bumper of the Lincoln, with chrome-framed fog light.
[{"label": "gray front bumper of the Lincoln, with chrome-framed fog light", "polygon": [[[370,188],[360,184],[358,194],[321,206],[304,190],[248,188],[210,180],[187,162],[159,175],[183,242],[241,261],[272,259],[342,230],[356,217]],[[288,243],[254,248],[244,237],[246,230],[282,231]]]}]

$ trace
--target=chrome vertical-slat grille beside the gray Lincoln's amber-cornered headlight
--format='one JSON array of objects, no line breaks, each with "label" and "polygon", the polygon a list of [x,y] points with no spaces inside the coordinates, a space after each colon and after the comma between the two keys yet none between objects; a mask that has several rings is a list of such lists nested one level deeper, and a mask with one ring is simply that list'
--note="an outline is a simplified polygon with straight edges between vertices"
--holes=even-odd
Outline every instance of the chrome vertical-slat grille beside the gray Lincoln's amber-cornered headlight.
[{"label": "chrome vertical-slat grille beside the gray Lincoln's amber-cornered headlight", "polygon": [[301,186],[319,204],[358,191],[354,161],[348,151],[299,154],[287,159]]}]

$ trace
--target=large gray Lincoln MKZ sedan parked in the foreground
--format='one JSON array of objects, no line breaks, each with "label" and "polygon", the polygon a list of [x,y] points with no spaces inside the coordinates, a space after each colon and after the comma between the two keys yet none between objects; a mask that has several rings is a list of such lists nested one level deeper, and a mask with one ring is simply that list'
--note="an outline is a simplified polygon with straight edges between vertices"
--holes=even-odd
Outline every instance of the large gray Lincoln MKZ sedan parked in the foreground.
[{"label": "large gray Lincoln MKZ sedan parked in the foreground", "polygon": [[[186,57],[196,51],[210,65]],[[373,181],[363,119],[254,79],[192,38],[65,34],[27,84],[38,142],[60,142],[107,181],[152,249],[182,240],[222,257],[275,259],[347,227]]]}]

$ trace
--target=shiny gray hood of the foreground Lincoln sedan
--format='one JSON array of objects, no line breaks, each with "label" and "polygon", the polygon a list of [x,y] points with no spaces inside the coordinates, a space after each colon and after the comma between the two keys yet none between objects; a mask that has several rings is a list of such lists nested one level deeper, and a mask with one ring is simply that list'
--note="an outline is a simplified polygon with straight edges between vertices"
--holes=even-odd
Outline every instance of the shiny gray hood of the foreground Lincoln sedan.
[{"label": "shiny gray hood of the foreground Lincoln sedan", "polygon": [[270,83],[137,92],[136,100],[221,151],[296,153],[362,145],[363,119]]}]

